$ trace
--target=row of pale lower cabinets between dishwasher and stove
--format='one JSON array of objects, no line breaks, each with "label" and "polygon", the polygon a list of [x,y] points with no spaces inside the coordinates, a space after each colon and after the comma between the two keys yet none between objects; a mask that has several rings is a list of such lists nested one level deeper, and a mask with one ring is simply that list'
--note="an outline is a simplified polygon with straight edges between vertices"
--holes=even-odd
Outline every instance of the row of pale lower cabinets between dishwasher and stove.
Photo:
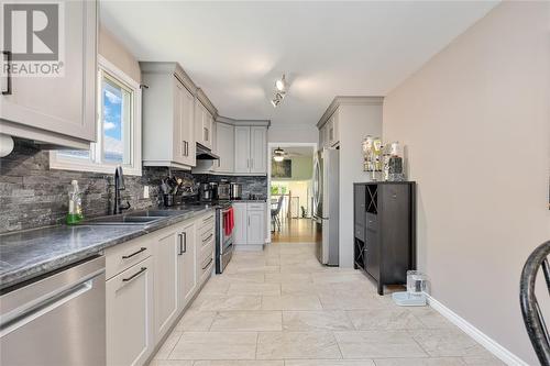
[{"label": "row of pale lower cabinets between dishwasher and stove", "polygon": [[106,249],[107,364],[144,365],[213,268],[213,212]]}]

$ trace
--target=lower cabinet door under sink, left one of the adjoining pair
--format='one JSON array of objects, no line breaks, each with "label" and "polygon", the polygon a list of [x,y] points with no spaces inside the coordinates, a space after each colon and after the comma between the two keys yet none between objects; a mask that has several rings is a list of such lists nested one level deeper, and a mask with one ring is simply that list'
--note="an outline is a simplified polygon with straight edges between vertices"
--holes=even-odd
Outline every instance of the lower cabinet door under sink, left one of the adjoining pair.
[{"label": "lower cabinet door under sink, left one of the adjoining pair", "polygon": [[178,235],[169,232],[155,243],[155,335],[168,331],[178,310]]}]

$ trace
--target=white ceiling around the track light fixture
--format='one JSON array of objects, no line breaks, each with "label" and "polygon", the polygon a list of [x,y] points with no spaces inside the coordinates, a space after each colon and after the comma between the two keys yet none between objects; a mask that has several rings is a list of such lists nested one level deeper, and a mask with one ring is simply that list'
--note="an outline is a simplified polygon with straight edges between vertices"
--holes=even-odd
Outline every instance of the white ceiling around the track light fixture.
[{"label": "white ceiling around the track light fixture", "polygon": [[386,95],[496,3],[103,0],[101,22],[138,59],[179,62],[221,115],[312,125],[334,96]]}]

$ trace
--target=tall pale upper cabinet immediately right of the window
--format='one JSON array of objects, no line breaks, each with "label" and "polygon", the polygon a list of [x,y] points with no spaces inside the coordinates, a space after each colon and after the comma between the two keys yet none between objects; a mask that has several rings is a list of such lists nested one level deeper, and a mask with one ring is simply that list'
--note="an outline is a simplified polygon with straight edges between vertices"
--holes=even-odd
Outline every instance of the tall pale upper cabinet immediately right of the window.
[{"label": "tall pale upper cabinet immediately right of the window", "polygon": [[143,165],[196,165],[196,87],[176,63],[140,63],[143,91]]}]

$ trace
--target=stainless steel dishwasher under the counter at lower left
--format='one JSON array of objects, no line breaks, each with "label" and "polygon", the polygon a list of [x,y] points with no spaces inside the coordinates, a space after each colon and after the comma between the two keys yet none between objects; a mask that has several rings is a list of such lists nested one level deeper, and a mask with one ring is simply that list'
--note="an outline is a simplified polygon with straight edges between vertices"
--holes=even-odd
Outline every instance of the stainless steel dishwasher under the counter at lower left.
[{"label": "stainless steel dishwasher under the counter at lower left", "polygon": [[105,284],[100,256],[2,293],[0,365],[105,365]]}]

